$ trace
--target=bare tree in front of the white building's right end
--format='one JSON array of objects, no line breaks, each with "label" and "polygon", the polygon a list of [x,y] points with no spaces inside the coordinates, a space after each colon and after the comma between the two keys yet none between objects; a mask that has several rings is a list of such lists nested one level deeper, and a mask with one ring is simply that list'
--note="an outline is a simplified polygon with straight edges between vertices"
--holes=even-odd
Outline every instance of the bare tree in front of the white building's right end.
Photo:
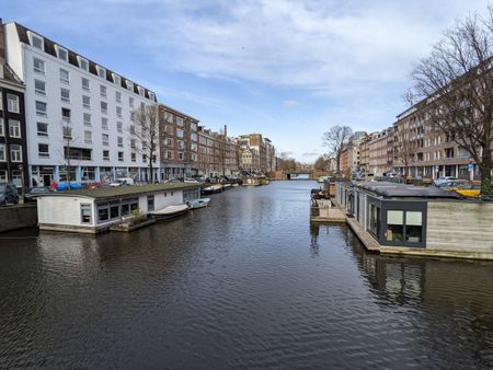
[{"label": "bare tree in front of the white building's right end", "polygon": [[139,139],[142,157],[149,161],[149,181],[154,180],[152,161],[156,158],[159,147],[159,104],[140,106],[133,112],[133,120],[136,124],[135,129],[130,128],[130,135]]}]

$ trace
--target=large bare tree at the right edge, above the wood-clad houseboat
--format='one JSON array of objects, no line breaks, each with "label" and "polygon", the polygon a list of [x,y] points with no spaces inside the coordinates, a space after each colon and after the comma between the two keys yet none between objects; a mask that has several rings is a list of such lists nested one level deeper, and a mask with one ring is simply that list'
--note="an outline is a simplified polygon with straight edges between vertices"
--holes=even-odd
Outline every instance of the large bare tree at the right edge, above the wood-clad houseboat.
[{"label": "large bare tree at the right edge, above the wood-clad houseboat", "polygon": [[412,77],[432,126],[466,149],[481,169],[481,193],[492,194],[493,11],[458,21]]}]

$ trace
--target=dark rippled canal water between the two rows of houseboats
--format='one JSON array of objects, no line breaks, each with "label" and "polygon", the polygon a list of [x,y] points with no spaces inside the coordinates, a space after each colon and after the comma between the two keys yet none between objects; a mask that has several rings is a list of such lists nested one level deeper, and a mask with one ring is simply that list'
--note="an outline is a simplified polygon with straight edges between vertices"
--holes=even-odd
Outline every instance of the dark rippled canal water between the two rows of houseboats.
[{"label": "dark rippled canal water between the two rows of houseboats", "polygon": [[0,235],[0,368],[493,367],[493,264],[367,253],[314,182],[133,233]]}]

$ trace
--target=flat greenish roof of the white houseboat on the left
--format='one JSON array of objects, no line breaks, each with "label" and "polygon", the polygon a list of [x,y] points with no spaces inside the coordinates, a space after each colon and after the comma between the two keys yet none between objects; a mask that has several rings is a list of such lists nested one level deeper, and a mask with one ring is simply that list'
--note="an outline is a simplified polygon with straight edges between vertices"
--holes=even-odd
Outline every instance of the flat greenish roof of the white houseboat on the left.
[{"label": "flat greenish roof of the white houseboat on the left", "polygon": [[139,195],[145,193],[158,193],[158,192],[173,192],[173,190],[187,190],[200,187],[199,184],[148,184],[148,185],[131,185],[131,186],[108,186],[100,187],[96,189],[80,189],[80,190],[69,190],[69,192],[55,192],[44,194],[46,196],[62,196],[62,197],[87,197],[87,198],[116,198],[125,197],[131,195]]}]

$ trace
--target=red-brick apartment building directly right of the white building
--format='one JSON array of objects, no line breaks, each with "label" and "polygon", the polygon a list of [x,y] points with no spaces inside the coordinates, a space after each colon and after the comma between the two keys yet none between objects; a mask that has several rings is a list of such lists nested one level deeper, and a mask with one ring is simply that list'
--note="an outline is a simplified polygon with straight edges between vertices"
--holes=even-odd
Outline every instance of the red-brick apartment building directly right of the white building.
[{"label": "red-brick apartment building directly right of the white building", "polygon": [[199,120],[164,104],[159,115],[161,180],[197,175]]}]

